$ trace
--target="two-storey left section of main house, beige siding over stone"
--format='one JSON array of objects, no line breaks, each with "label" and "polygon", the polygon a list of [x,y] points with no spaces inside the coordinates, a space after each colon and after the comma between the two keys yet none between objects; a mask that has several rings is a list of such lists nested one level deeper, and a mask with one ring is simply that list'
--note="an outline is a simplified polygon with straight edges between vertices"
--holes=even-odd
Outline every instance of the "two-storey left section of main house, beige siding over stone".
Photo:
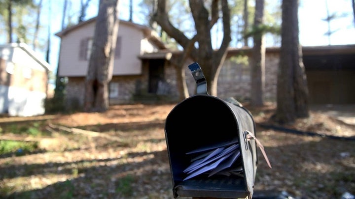
[{"label": "two-storey left section of main house, beige siding over stone", "polygon": [[[95,31],[96,17],[56,33],[61,38],[58,76],[67,77],[67,105],[77,107],[84,101],[84,82]],[[142,25],[120,20],[113,77],[109,84],[111,104],[127,103],[144,84],[156,84],[159,74],[145,77],[139,56],[166,49],[160,38]],[[163,64],[157,62],[156,64]],[[159,67],[159,66],[158,66]],[[158,77],[154,77],[158,75]]]}]

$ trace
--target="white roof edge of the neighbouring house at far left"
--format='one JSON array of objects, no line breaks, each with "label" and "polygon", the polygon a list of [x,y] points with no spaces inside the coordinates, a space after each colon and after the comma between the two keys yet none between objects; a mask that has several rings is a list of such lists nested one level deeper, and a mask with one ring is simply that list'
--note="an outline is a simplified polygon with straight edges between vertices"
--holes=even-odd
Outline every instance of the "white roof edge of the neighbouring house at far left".
[{"label": "white roof edge of the neighbouring house at far left", "polygon": [[53,67],[47,61],[45,61],[43,58],[41,58],[33,49],[30,48],[30,46],[28,46],[24,42],[0,45],[0,48],[16,48],[16,47],[20,48],[24,52],[26,52],[37,63],[39,63],[45,70],[47,70],[47,71],[53,70]]}]

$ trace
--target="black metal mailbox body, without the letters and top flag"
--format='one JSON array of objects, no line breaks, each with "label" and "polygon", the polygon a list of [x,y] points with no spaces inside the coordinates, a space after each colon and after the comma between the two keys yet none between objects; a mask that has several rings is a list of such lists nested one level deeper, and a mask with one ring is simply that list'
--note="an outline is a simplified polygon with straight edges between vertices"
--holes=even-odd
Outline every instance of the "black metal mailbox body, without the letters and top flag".
[{"label": "black metal mailbox body, without the letters and top flag", "polygon": [[[178,103],[165,121],[174,198],[252,197],[257,168],[256,143],[246,139],[255,135],[255,123],[247,109],[208,94],[197,94]],[[195,176],[183,180],[183,170],[191,163],[186,152],[238,139],[243,176]]]}]

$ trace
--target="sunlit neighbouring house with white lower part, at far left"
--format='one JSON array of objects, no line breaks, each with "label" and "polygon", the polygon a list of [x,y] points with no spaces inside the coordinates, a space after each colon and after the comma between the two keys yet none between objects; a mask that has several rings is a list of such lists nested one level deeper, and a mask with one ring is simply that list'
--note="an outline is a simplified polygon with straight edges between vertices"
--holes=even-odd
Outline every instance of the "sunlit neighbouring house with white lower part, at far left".
[{"label": "sunlit neighbouring house with white lower part, at far left", "polygon": [[0,45],[0,113],[45,113],[48,72],[52,67],[25,43]]}]

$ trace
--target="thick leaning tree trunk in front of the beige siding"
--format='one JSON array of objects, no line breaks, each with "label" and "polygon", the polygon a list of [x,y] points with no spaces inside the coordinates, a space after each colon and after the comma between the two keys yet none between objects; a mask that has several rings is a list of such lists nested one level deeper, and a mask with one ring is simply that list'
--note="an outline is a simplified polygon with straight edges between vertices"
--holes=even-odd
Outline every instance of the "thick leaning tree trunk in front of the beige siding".
[{"label": "thick leaning tree trunk in front of the beige siding", "polygon": [[100,0],[93,48],[85,79],[84,111],[108,109],[108,83],[112,79],[118,32],[118,0]]}]

